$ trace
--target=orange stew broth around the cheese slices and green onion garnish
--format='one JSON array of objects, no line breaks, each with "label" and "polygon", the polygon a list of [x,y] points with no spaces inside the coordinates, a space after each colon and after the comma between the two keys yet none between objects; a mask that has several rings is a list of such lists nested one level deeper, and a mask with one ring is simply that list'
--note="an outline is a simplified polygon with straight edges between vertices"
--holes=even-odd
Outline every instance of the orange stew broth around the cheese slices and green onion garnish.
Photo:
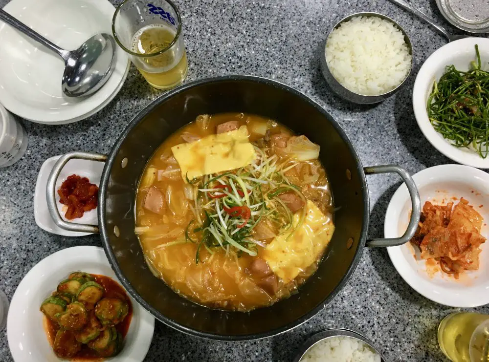
[{"label": "orange stew broth around the cheese slices and green onion garnish", "polygon": [[[138,185],[135,207],[136,234],[138,234],[145,258],[153,273],[163,279],[179,295],[211,308],[249,311],[271,305],[293,294],[298,286],[315,272],[326,247],[322,249],[311,265],[299,268],[293,280],[284,282],[282,278],[273,276],[276,290],[272,291],[268,285],[264,286],[263,283],[270,274],[264,277],[260,270],[255,270],[257,264],[253,264],[257,259],[262,260],[266,257],[265,247],[274,239],[270,235],[259,235],[260,229],[263,228],[255,227],[253,229],[253,237],[261,240],[257,241],[261,246],[256,245],[256,248],[253,249],[256,250],[256,256],[233,248],[231,249],[234,251],[230,251],[229,245],[227,248],[219,246],[209,249],[207,247],[199,248],[202,232],[196,232],[195,229],[200,225],[197,219],[204,218],[204,214],[196,210],[193,200],[186,197],[188,189],[193,186],[183,180],[178,163],[173,157],[172,147],[184,143],[182,136],[192,138],[193,136],[205,137],[216,134],[217,126],[229,121],[238,121],[239,126],[247,126],[249,142],[255,146],[258,145],[267,153],[267,156],[276,154],[274,162],[278,160],[286,165],[284,170],[288,169],[284,171],[288,182],[302,192],[308,200],[307,205],[311,201],[317,206],[324,216],[323,219],[326,220],[323,224],[328,223],[333,227],[333,199],[325,170],[320,161],[316,159],[296,162],[294,166],[292,161],[288,163],[289,159],[279,152],[281,149],[269,146],[272,142],[270,139],[275,139],[274,135],[289,137],[294,135],[293,132],[283,125],[257,115],[223,113],[210,116],[206,129],[203,129],[202,123],[199,122],[192,122],[180,128],[156,149]],[[253,131],[260,126],[267,127],[265,136]],[[280,141],[280,137],[277,138]],[[164,195],[161,208],[156,209],[158,212],[145,208],[145,199],[148,192],[152,192],[151,190],[159,191]],[[264,190],[267,190],[266,185],[264,185]],[[293,192],[289,193],[293,194]],[[198,194],[203,197],[204,192]],[[212,198],[204,196],[209,203],[213,202]],[[304,205],[303,208],[306,206]],[[297,211],[298,213],[301,211]],[[294,217],[299,218],[295,215]],[[260,220],[261,225],[266,222],[267,217]],[[296,227],[298,228],[298,225]],[[328,237],[331,239],[333,231],[329,233]],[[293,236],[290,237],[290,240],[292,238]],[[189,239],[195,242],[189,242]]]}]

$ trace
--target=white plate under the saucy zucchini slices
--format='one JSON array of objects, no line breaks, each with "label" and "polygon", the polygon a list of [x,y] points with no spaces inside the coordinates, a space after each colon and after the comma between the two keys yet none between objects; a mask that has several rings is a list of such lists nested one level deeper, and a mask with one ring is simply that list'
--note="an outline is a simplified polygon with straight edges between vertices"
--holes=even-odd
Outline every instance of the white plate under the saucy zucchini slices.
[{"label": "white plate under the saucy zucchini slices", "polygon": [[[39,307],[58,283],[73,271],[105,275],[118,281],[104,250],[95,246],[64,249],[37,263],[17,287],[8,311],[7,340],[15,362],[62,361],[47,341]],[[155,318],[133,298],[131,301],[133,319],[124,339],[124,348],[110,359],[113,362],[142,362],[153,339]]]}]

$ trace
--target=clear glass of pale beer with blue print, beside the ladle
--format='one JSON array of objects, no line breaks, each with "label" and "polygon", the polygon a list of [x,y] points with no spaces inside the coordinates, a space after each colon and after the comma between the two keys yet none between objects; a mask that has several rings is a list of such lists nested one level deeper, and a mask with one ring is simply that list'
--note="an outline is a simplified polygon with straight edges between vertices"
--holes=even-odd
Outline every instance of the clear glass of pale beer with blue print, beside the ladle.
[{"label": "clear glass of pale beer with blue print, beside the ladle", "polygon": [[112,18],[115,41],[158,89],[170,89],[187,76],[181,18],[170,0],[125,0]]}]

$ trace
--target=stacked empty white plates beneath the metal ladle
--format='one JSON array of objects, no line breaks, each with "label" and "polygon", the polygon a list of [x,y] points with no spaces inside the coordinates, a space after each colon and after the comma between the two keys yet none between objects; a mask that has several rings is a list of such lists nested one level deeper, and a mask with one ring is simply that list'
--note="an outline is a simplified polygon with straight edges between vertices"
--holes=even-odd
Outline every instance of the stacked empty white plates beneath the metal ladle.
[{"label": "stacked empty white plates beneath the metal ladle", "polygon": [[[3,8],[53,43],[76,49],[89,37],[111,34],[115,11],[107,0],[12,0]],[[114,72],[89,97],[69,98],[61,90],[63,60],[43,45],[0,22],[0,101],[22,118],[64,124],[87,118],[106,106],[129,70],[126,53],[117,47]]]}]

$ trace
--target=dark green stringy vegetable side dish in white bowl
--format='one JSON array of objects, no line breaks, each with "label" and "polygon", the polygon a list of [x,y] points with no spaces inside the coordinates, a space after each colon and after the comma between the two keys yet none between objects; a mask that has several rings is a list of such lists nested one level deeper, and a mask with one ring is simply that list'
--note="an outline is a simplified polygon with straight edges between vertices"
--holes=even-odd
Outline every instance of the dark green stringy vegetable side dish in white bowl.
[{"label": "dark green stringy vegetable side dish in white bowl", "polygon": [[489,72],[482,70],[479,47],[477,62],[463,72],[454,65],[435,81],[426,110],[435,130],[458,148],[475,149],[480,157],[489,153]]}]

